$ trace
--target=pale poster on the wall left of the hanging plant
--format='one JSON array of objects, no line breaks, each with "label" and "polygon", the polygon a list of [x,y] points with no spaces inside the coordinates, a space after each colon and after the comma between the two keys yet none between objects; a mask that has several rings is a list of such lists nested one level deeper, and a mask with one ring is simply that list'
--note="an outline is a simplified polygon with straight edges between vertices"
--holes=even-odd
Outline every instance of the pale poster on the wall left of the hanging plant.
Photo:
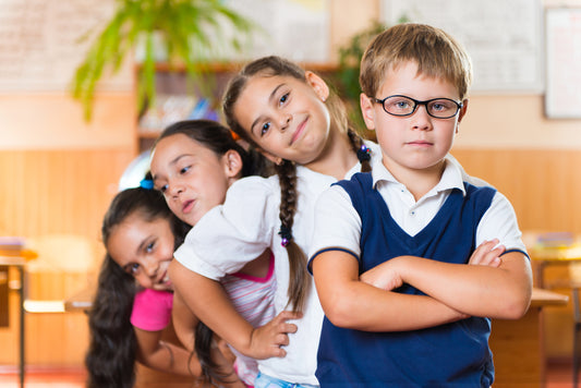
[{"label": "pale poster on the wall left of the hanging plant", "polygon": [[[112,14],[113,0],[0,0],[0,93],[64,92],[89,39]],[[131,89],[131,73],[99,89]]]}]

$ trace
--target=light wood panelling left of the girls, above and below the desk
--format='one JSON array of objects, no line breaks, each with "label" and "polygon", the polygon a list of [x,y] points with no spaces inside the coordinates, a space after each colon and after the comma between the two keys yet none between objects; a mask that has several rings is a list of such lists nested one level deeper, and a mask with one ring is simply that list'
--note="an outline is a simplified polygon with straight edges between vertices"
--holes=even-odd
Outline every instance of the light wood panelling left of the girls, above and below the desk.
[{"label": "light wood panelling left of the girls, above and below the desk", "polygon": [[[129,149],[0,151],[0,235],[35,240],[46,235],[82,237],[98,263],[105,210],[134,155]],[[27,276],[35,299],[61,299],[87,287],[95,274],[37,270]],[[11,279],[17,279],[11,271]],[[17,294],[10,295],[10,327],[0,329],[0,364],[19,356]],[[26,361],[40,366],[81,366],[88,345],[84,314],[27,314]]]}]

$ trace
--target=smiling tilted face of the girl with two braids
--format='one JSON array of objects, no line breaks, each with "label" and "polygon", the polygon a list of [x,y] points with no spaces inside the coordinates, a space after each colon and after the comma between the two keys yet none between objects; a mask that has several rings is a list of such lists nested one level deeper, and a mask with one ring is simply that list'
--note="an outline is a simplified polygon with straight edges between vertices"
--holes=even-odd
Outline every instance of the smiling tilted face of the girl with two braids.
[{"label": "smiling tilted face of the girl with two braids", "polygon": [[292,76],[250,78],[234,106],[234,116],[267,158],[308,165],[329,140],[330,117],[325,82],[306,72]]}]

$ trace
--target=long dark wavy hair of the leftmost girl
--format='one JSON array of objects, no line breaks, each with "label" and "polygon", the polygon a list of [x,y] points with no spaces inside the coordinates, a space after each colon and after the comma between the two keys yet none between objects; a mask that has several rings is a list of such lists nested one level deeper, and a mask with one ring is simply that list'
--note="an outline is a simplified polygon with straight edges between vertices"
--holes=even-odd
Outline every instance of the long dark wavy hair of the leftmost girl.
[{"label": "long dark wavy hair of the leftmost girl", "polygon": [[[138,214],[144,220],[167,219],[179,246],[190,229],[169,209],[161,193],[135,187],[116,195],[101,226],[107,246],[111,230],[129,216]],[[98,277],[97,293],[88,312],[90,343],[85,357],[87,387],[132,387],[135,383],[137,340],[130,317],[137,287],[109,254],[106,254]]]}]

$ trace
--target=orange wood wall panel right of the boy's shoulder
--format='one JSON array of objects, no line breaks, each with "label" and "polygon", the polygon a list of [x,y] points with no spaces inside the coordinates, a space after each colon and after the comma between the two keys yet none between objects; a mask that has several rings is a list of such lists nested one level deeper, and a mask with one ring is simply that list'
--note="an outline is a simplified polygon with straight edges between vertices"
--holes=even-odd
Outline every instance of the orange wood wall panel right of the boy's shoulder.
[{"label": "orange wood wall panel right of the boy's shoulder", "polygon": [[581,150],[455,149],[467,172],[505,194],[522,230],[581,233]]}]

